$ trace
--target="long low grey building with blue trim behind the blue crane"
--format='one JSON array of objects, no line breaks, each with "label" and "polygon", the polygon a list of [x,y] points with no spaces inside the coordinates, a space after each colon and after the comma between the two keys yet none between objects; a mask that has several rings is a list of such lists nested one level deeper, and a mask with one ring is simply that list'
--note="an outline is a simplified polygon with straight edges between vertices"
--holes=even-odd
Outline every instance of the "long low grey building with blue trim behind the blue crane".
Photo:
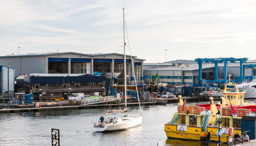
[{"label": "long low grey building with blue trim behind the blue crane", "polygon": [[[216,58],[204,59],[214,60]],[[255,60],[247,60],[247,58],[242,58],[240,59],[241,61],[235,58],[217,58],[216,60],[218,62],[206,61],[198,64],[193,62],[192,64],[185,64],[186,62],[180,63],[181,61],[179,60],[173,66],[159,66],[159,68],[147,69],[144,70],[144,81],[152,81],[156,74],[159,75],[160,82],[168,83],[169,85],[193,85],[202,83],[202,81],[225,83],[228,74],[232,75],[231,78],[235,82],[251,81],[256,78],[256,70],[254,68],[256,67]]]}]

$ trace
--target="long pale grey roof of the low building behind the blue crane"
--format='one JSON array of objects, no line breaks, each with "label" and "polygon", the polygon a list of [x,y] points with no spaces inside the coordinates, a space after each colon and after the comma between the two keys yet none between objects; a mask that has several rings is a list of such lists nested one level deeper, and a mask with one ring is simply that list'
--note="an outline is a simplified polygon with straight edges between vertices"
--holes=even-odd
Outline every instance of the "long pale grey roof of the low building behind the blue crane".
[{"label": "long pale grey roof of the low building behind the blue crane", "polygon": [[[248,64],[256,64],[256,63],[244,63],[244,65]],[[227,63],[228,67],[240,67],[240,63]],[[214,68],[214,63],[202,63],[202,69],[207,68]],[[218,67],[224,67],[224,63],[218,63]],[[184,70],[184,71],[193,71],[198,70],[198,64],[192,64],[192,65],[181,65],[181,66],[168,66],[163,68],[156,68],[156,69],[148,69],[148,71],[173,71],[173,70]]]}]

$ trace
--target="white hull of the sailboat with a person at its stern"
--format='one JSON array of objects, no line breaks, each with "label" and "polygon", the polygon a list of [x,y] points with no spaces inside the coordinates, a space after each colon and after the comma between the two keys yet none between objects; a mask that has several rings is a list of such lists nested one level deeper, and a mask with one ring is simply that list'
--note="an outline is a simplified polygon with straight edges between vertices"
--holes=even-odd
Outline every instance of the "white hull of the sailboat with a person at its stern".
[{"label": "white hull of the sailboat with a person at its stern", "polygon": [[[108,121],[109,119],[107,119]],[[103,127],[99,123],[94,124],[94,130],[98,132],[103,131],[115,131],[132,128],[141,125],[142,115],[129,115],[127,117],[116,117],[113,118],[113,122],[106,122]]]}]

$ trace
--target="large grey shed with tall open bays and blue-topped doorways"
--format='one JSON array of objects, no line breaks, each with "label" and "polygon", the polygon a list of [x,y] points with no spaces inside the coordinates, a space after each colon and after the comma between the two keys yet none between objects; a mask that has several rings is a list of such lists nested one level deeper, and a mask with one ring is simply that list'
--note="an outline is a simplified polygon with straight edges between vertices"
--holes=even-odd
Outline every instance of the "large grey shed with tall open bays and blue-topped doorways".
[{"label": "large grey shed with tall open bays and blue-topped doorways", "polygon": [[[143,81],[143,59],[136,56],[126,56],[127,82],[134,84],[133,69],[138,83]],[[134,68],[131,62],[134,63]],[[75,52],[29,53],[20,55],[0,56],[0,64],[11,65],[15,69],[15,77],[32,73],[50,74],[114,74],[120,73],[115,83],[122,83],[124,55],[109,54],[81,54]],[[113,77],[113,76],[112,76]]]}]

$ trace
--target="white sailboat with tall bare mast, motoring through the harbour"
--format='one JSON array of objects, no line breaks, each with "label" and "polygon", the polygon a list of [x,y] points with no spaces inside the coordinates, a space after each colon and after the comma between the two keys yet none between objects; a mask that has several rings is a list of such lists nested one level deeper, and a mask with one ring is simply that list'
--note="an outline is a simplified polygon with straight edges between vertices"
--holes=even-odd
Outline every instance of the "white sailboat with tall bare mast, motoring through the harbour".
[{"label": "white sailboat with tall bare mast, motoring through the harbour", "polygon": [[[125,26],[124,8],[123,8],[123,23]],[[126,45],[126,43],[125,43],[125,27],[124,27],[124,60],[126,60],[125,45]],[[118,112],[125,112],[125,114],[122,117],[104,118],[104,123],[100,123],[100,120],[98,122],[94,122],[93,128],[95,131],[103,132],[103,131],[123,130],[123,129],[139,126],[142,123],[142,114],[140,114],[140,115],[128,115],[127,114],[127,102],[126,102],[126,98],[127,98],[126,77],[127,76],[126,76],[126,63],[125,62],[126,61],[124,61],[125,107],[123,109],[119,109],[119,110],[105,111],[105,114],[112,114],[112,113],[118,113]],[[133,62],[132,62],[132,64],[133,64]],[[136,79],[135,79],[135,85],[137,85]],[[138,95],[138,91],[137,91],[137,95]],[[138,102],[139,102],[139,96],[138,96]]]}]

